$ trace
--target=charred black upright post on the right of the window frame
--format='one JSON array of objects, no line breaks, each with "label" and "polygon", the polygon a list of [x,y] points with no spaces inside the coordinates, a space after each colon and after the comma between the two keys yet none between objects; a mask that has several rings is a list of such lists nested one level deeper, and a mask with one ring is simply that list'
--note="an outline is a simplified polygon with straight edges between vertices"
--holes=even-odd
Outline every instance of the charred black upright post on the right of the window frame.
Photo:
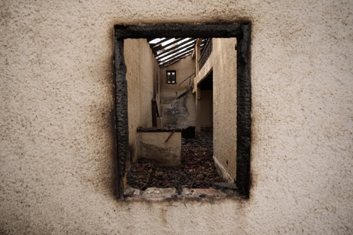
[{"label": "charred black upright post on the right of the window frame", "polygon": [[237,37],[237,186],[249,196],[250,137],[251,137],[251,81],[250,40],[251,24],[241,25]]}]

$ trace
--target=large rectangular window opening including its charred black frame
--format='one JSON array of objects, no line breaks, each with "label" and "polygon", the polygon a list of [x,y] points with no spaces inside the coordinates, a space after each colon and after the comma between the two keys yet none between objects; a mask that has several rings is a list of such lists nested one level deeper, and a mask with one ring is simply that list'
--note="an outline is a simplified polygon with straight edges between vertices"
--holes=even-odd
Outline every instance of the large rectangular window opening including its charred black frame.
[{"label": "large rectangular window opening including its charred black frame", "polygon": [[250,39],[250,23],[115,26],[119,199],[249,198]]}]

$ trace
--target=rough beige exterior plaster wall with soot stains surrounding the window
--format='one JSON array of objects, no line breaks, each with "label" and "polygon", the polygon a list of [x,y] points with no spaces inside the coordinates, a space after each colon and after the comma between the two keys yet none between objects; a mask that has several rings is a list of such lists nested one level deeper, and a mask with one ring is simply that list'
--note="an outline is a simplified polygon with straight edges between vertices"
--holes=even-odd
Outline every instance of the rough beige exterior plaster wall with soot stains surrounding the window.
[{"label": "rough beige exterior plaster wall with soot stains surrounding the window", "polygon": [[[352,234],[352,7],[1,1],[1,233]],[[118,201],[114,24],[237,20],[252,22],[250,199]]]}]

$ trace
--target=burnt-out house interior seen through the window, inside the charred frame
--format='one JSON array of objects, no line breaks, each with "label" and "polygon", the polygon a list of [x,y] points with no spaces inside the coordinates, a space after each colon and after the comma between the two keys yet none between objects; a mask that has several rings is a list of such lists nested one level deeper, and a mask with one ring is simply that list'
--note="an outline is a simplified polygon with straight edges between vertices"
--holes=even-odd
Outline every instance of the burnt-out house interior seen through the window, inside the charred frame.
[{"label": "burnt-out house interior seen through the window, inside the charred frame", "polygon": [[124,40],[124,196],[238,193],[236,44],[236,38]]}]

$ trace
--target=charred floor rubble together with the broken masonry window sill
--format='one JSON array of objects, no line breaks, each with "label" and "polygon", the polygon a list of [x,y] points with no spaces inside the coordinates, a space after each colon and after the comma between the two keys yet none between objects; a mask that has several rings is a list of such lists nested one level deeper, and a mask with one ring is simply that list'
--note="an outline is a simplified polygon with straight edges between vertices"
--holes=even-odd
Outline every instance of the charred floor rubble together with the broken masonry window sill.
[{"label": "charred floor rubble together with the broken masonry window sill", "polygon": [[[167,193],[170,194],[169,197],[233,194],[236,190],[235,184],[222,183],[224,181],[214,164],[213,129],[202,128],[201,133],[195,135],[195,139],[182,138],[181,165],[179,166],[156,166],[153,160],[139,159],[127,175],[128,186],[125,195],[146,194],[145,196],[148,197],[151,192],[155,192],[152,195],[158,195],[158,193],[167,190],[166,188],[175,189],[173,192],[170,191],[173,189],[168,189],[170,191]],[[202,190],[201,192],[200,189],[203,189],[204,192]]]}]

